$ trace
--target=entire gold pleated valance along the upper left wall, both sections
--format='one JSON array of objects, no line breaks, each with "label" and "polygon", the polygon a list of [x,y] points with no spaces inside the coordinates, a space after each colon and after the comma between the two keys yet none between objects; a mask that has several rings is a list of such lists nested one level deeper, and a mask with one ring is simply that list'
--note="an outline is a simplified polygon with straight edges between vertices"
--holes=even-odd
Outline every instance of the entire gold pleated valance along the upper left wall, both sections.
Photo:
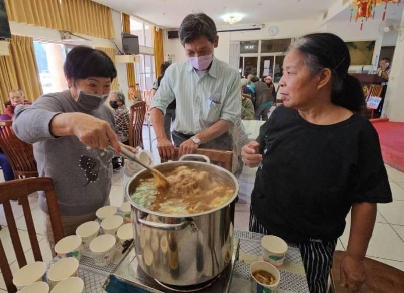
[{"label": "entire gold pleated valance along the upper left wall, both sections", "polygon": [[91,0],[5,0],[10,21],[113,39],[111,9]]}]

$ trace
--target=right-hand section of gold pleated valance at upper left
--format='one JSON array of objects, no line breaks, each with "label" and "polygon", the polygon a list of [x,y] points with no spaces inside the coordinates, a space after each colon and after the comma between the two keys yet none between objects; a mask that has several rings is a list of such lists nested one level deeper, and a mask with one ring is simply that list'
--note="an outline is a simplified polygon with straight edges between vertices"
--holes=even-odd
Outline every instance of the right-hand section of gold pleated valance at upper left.
[{"label": "right-hand section of gold pleated valance at upper left", "polygon": [[111,9],[91,0],[63,0],[63,25],[67,31],[113,39]]}]

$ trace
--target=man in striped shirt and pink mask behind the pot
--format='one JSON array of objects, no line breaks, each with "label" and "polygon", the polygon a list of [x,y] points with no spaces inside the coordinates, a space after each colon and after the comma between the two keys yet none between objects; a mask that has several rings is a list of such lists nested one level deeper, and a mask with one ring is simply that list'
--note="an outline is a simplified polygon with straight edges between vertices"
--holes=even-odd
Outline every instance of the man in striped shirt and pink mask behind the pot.
[{"label": "man in striped shirt and pink mask behind the pot", "polygon": [[164,132],[164,114],[174,97],[177,107],[172,135],[180,156],[194,153],[199,146],[232,150],[230,132],[241,119],[240,75],[213,56],[219,36],[206,14],[186,16],[179,37],[188,60],[167,68],[151,109],[160,157],[167,160],[174,155],[173,144]]}]

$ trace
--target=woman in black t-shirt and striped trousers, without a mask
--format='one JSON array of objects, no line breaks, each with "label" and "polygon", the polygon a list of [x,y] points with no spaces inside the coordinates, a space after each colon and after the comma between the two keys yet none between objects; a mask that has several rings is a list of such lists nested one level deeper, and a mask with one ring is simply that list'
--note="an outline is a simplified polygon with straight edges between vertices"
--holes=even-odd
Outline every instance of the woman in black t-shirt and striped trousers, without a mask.
[{"label": "woman in black t-shirt and striped trousers, without a mask", "polygon": [[349,65],[336,35],[311,34],[293,44],[279,82],[284,106],[242,151],[248,166],[259,166],[249,228],[297,244],[311,293],[326,291],[350,208],[340,281],[349,292],[359,290],[376,204],[392,201],[378,135],[359,114],[363,91]]}]

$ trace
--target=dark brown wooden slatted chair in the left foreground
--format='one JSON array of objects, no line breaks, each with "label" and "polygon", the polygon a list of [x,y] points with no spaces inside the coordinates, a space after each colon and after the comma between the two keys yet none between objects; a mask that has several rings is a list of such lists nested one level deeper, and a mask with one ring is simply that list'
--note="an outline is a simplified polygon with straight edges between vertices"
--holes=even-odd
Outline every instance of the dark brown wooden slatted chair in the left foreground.
[{"label": "dark brown wooden slatted chair in the left foreground", "polygon": [[[13,211],[11,209],[10,199],[18,198],[21,200],[34,259],[35,261],[42,261],[42,254],[39,249],[39,243],[36,237],[35,226],[28,202],[28,195],[36,191],[45,192],[49,217],[51,218],[52,230],[55,237],[55,243],[57,243],[63,238],[64,232],[52,179],[44,177],[24,178],[0,183],[0,203],[3,204],[7,226],[10,231],[10,238],[13,243],[14,252],[16,254],[18,266],[20,268],[27,264],[27,260],[25,258],[24,250],[21,246],[21,241],[18,236],[18,230],[16,227]],[[13,285],[13,275],[11,273],[6,257],[6,252],[4,251],[1,240],[0,269],[2,271],[7,290],[9,292],[17,292],[17,288]]]}]

